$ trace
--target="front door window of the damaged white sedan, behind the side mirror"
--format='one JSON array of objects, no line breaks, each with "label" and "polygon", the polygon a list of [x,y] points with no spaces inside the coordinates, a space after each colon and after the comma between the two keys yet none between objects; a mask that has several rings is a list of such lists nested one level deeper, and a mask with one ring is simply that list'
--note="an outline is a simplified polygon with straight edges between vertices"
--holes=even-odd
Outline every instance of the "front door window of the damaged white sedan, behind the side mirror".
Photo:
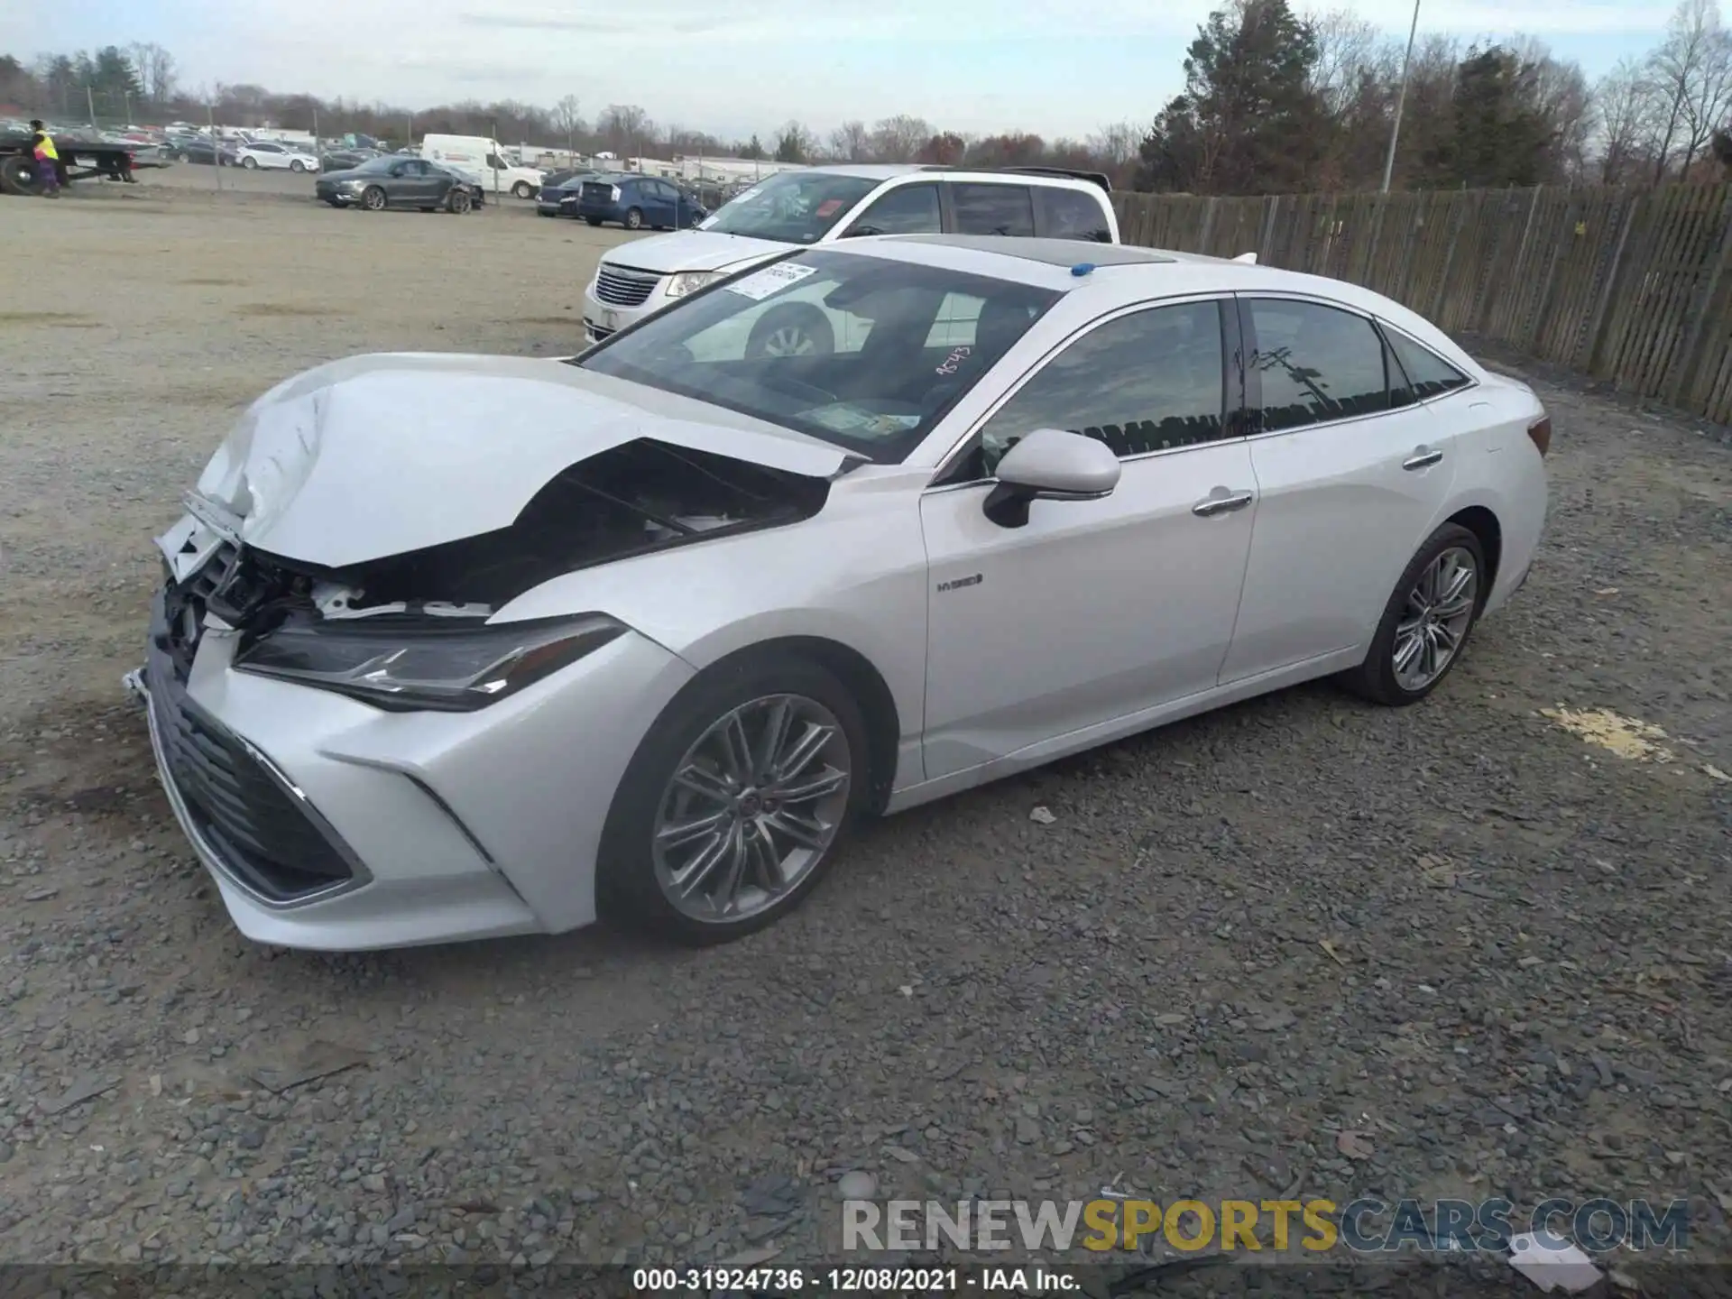
[{"label": "front door window of the damaged white sedan, behind the side mirror", "polygon": [[1037,428],[1082,433],[1119,457],[1225,438],[1221,305],[1154,307],[1082,334],[986,423],[958,481],[991,478]]}]

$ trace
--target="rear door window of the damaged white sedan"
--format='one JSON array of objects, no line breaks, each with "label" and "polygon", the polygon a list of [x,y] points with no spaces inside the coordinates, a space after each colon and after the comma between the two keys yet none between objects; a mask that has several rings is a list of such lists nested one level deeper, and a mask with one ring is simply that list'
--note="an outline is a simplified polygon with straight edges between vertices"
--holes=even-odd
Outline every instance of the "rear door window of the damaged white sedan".
[{"label": "rear door window of the damaged white sedan", "polygon": [[1245,303],[1263,386],[1261,428],[1273,433],[1389,409],[1384,343],[1363,315],[1309,301]]}]

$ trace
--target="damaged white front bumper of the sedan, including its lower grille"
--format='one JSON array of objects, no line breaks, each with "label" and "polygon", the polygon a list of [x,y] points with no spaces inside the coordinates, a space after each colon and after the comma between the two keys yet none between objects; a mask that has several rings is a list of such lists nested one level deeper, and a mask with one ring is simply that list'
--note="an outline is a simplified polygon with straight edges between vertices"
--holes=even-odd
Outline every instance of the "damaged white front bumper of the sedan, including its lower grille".
[{"label": "damaged white front bumper of the sedan, including its lower grille", "polygon": [[388,714],[234,670],[239,637],[211,618],[177,656],[177,585],[152,601],[126,688],[242,934],[362,951],[594,920],[601,826],[637,738],[691,675],[681,660],[629,636],[570,669],[594,689],[549,679],[476,714]]}]

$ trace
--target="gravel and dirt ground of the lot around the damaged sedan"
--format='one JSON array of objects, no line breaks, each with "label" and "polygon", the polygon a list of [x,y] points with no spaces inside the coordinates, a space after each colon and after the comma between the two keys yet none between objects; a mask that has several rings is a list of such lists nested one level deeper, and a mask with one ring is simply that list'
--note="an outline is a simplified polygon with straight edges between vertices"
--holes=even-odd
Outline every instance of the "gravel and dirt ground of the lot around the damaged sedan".
[{"label": "gravel and dirt ground of the lot around the damaged sedan", "polygon": [[[0,199],[9,1261],[792,1257],[849,1169],[1687,1195],[1729,1252],[1727,447],[1541,383],[1548,542],[1434,700],[1297,689],[920,809],[743,944],[274,953],[120,689],[151,537],[317,360],[570,350],[620,236],[196,182]],[[365,1060],[253,1079],[313,1043]]]}]

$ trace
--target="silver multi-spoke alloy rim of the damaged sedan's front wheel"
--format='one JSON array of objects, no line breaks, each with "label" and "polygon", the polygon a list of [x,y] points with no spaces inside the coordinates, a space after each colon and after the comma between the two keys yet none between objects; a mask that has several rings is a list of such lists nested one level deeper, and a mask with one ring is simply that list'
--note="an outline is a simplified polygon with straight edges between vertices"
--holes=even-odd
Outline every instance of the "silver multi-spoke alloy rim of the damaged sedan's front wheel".
[{"label": "silver multi-spoke alloy rim of the damaged sedan's front wheel", "polygon": [[705,923],[774,906],[835,842],[852,771],[847,733],[816,700],[740,705],[698,736],[662,793],[651,831],[662,895]]}]

